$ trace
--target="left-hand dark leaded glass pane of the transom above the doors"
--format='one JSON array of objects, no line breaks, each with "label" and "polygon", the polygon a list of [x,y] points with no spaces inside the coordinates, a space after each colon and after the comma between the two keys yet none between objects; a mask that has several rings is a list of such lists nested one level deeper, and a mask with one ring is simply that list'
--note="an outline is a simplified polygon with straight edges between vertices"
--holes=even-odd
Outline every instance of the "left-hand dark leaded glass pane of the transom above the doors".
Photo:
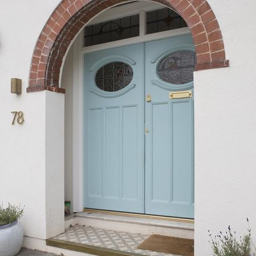
[{"label": "left-hand dark leaded glass pane of the transom above the doors", "polygon": [[139,36],[139,14],[85,27],[84,46]]}]

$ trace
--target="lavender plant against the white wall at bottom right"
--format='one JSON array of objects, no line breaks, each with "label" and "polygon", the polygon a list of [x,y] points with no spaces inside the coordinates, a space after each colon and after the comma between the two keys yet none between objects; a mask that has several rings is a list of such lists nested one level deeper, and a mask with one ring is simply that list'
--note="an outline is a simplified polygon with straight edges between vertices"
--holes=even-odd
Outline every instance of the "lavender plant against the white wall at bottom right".
[{"label": "lavender plant against the white wall at bottom right", "polygon": [[[228,226],[228,231],[223,234],[221,231],[216,236],[212,237],[210,234],[210,244],[213,250],[213,256],[252,256],[250,254],[250,244],[252,242],[250,234],[250,226],[247,218],[248,229],[247,234],[236,237],[236,231],[232,231]],[[255,255],[255,254],[253,254]]]}]

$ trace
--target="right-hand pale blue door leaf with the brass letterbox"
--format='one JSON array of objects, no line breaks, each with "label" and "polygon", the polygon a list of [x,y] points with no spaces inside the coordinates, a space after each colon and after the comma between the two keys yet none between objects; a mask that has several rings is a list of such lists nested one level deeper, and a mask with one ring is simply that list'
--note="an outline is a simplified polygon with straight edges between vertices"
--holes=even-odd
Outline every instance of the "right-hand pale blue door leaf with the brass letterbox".
[{"label": "right-hand pale blue door leaf with the brass letterbox", "polygon": [[[194,218],[193,49],[188,35],[146,44],[145,93],[151,95],[145,105],[148,214]],[[176,91],[183,91],[176,94],[182,98],[170,99]]]}]

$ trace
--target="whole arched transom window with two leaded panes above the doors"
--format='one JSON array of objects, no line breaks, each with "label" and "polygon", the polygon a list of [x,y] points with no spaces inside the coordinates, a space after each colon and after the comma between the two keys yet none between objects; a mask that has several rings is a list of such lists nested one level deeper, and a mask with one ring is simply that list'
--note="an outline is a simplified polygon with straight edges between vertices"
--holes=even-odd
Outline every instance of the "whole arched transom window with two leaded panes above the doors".
[{"label": "whole arched transom window with two leaded panes above the doors", "polygon": [[184,27],[188,27],[186,22],[174,10],[136,1],[112,7],[89,23],[84,29],[84,47]]}]

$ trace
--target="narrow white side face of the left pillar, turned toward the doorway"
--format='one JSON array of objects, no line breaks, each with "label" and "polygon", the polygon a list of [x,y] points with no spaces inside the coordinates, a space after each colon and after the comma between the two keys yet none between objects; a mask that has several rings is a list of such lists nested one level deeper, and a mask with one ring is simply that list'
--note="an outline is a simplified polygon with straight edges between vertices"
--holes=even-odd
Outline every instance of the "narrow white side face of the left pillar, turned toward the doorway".
[{"label": "narrow white side face of the left pillar, turned toward the doorway", "polygon": [[46,94],[46,238],[64,233],[65,94]]}]

